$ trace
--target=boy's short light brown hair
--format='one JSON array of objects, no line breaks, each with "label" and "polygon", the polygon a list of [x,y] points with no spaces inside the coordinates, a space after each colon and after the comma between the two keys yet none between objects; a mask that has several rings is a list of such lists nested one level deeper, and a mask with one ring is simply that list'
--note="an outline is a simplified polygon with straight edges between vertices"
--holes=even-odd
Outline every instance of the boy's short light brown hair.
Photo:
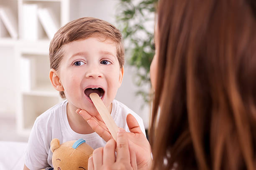
[{"label": "boy's short light brown hair", "polygon": [[[88,37],[104,37],[113,40],[117,48],[120,68],[124,65],[124,47],[121,32],[110,23],[97,18],[84,17],[73,20],[61,27],[51,40],[49,47],[50,67],[58,70],[64,51],[63,46],[69,42],[83,40]],[[60,92],[65,98],[64,92]]]}]

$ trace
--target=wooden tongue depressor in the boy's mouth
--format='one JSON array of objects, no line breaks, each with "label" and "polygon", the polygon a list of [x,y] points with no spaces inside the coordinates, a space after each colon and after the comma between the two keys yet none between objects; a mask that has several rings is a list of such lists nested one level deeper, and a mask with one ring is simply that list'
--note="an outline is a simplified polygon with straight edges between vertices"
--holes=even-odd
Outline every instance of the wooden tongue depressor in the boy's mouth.
[{"label": "wooden tongue depressor in the boy's mouth", "polygon": [[107,107],[104,105],[102,100],[100,99],[100,96],[93,92],[90,94],[90,98],[95,105],[96,109],[100,113],[100,116],[102,117],[103,121],[108,127],[108,130],[110,131],[111,135],[113,136],[114,140],[116,141],[116,136],[118,133],[118,126],[115,124],[115,121],[110,115],[110,112],[108,111]]}]

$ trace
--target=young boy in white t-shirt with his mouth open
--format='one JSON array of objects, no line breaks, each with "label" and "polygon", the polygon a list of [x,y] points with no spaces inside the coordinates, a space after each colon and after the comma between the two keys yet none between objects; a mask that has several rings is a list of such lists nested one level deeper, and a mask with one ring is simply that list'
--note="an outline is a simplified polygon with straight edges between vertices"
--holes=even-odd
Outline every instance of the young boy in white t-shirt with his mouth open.
[{"label": "young boy in white t-shirt with his mouth open", "polygon": [[53,167],[50,143],[54,138],[60,143],[83,138],[94,149],[105,145],[76,113],[81,108],[98,116],[89,97],[91,92],[101,97],[118,127],[129,131],[126,115],[131,113],[145,133],[141,117],[114,100],[124,72],[124,50],[118,29],[96,18],[74,20],[56,32],[49,56],[51,84],[66,100],[37,117],[28,140],[24,169]]}]

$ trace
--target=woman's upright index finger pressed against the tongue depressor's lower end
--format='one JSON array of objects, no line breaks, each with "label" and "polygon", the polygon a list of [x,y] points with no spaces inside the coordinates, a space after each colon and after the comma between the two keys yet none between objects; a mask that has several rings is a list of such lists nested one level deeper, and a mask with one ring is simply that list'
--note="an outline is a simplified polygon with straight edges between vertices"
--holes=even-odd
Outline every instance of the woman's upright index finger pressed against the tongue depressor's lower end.
[{"label": "woman's upright index finger pressed against the tongue depressor's lower end", "polygon": [[117,144],[116,144],[116,161],[128,162],[130,163],[130,152],[128,147],[127,133],[123,128],[119,128],[117,134]]}]

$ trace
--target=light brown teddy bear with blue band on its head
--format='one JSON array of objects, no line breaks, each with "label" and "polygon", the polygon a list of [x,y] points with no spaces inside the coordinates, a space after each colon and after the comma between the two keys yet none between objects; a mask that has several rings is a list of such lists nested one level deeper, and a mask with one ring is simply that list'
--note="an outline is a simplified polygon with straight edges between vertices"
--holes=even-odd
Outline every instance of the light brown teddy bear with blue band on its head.
[{"label": "light brown teddy bear with blue band on its head", "polygon": [[87,170],[93,149],[83,139],[67,141],[60,145],[59,139],[55,138],[51,140],[51,151],[54,170]]}]

